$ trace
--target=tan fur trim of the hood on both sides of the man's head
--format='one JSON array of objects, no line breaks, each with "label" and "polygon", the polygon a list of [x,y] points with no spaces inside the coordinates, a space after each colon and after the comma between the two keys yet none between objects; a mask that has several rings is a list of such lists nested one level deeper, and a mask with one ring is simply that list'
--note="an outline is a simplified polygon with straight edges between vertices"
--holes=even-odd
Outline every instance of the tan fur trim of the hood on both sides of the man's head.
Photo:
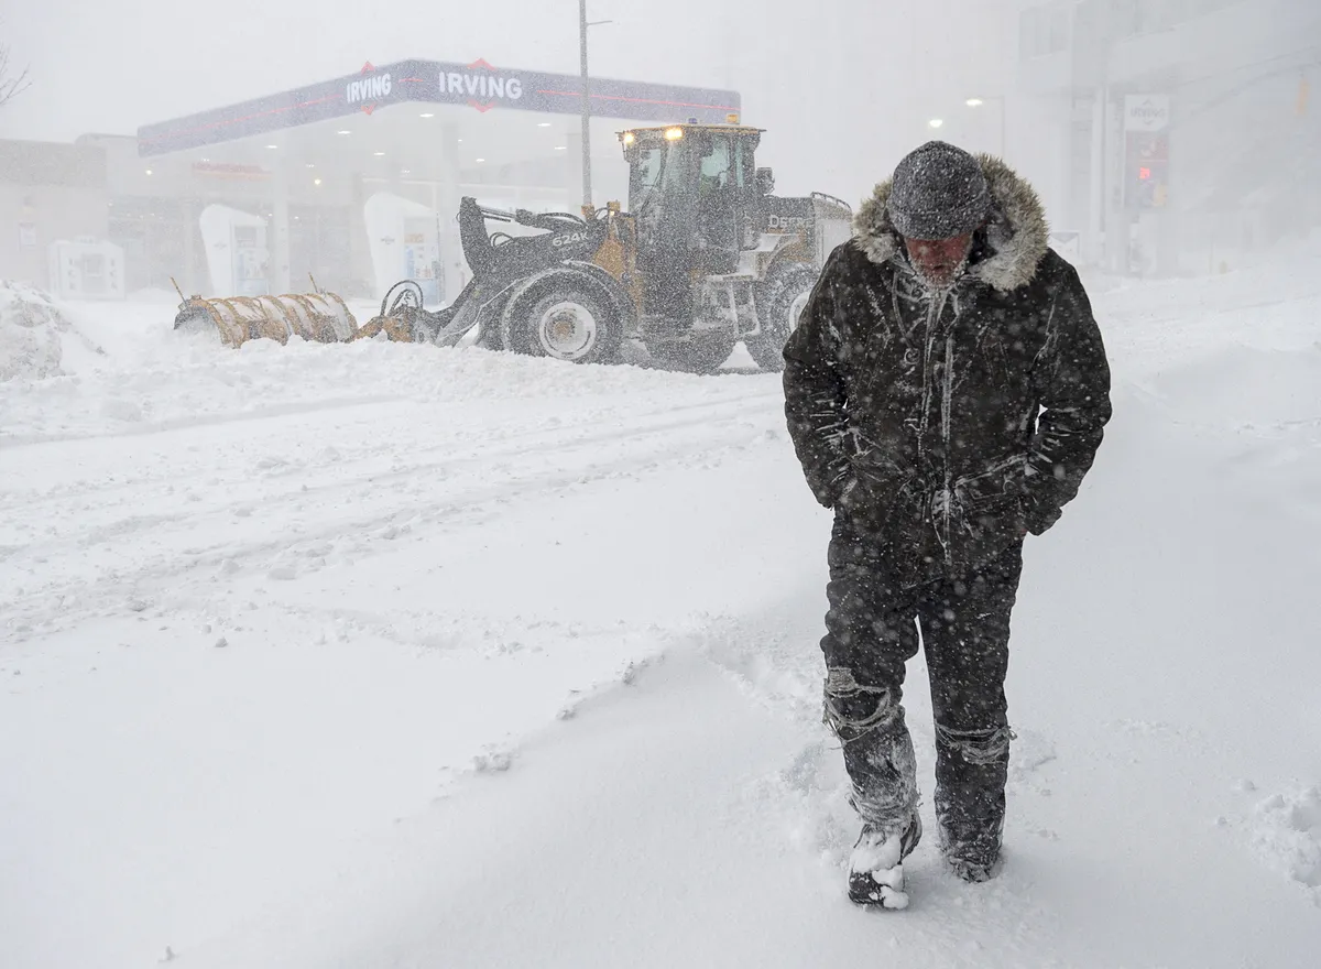
[{"label": "tan fur trim of the hood on both sides of the man's head", "polygon": [[[991,217],[985,227],[989,252],[968,267],[968,272],[993,290],[1009,292],[1032,282],[1046,254],[1050,229],[1041,200],[1025,178],[993,155],[978,155],[978,161],[991,193]],[[853,219],[857,246],[877,264],[902,252],[900,235],[885,209],[892,186],[892,178],[880,182]]]}]

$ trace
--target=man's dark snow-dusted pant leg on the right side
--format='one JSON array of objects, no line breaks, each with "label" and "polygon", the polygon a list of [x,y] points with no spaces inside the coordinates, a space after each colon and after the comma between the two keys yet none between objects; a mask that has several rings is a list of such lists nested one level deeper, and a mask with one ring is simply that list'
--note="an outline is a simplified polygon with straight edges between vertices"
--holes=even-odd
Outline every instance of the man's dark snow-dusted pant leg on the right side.
[{"label": "man's dark snow-dusted pant leg on the right side", "polygon": [[1004,679],[1021,570],[1016,543],[976,572],[933,586],[921,607],[941,847],[952,862],[976,869],[995,863],[1004,830],[1012,736]]}]

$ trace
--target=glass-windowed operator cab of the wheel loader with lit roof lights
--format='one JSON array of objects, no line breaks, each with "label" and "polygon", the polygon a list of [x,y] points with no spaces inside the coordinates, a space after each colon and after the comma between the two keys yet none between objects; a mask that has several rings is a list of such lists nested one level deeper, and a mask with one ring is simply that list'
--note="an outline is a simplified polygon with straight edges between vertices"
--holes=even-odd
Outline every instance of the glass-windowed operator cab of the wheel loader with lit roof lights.
[{"label": "glass-windowed operator cab of the wheel loader with lit roof lights", "polygon": [[[758,128],[678,124],[620,135],[638,267],[657,304],[687,303],[694,275],[723,275],[756,246]],[[651,303],[653,299],[647,299]]]}]

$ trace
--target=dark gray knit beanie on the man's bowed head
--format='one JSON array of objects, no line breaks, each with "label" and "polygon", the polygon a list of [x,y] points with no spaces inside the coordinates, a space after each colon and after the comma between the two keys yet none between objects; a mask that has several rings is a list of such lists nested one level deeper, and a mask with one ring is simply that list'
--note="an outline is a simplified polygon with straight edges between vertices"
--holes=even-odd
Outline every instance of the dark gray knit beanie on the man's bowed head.
[{"label": "dark gray knit beanie on the man's bowed head", "polygon": [[927,141],[900,161],[885,204],[890,222],[909,239],[963,235],[982,225],[989,208],[982,164],[945,141]]}]

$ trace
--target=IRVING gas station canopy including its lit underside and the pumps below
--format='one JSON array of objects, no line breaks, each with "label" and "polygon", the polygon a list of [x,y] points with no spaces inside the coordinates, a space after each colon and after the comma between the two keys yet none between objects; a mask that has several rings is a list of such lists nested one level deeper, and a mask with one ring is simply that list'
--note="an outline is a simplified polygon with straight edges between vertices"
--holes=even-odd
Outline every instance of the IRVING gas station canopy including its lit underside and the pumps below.
[{"label": "IRVING gas station canopy including its lit underside and the pumps below", "polygon": [[[588,97],[593,119],[625,127],[740,122],[736,91],[590,78]],[[428,299],[443,300],[468,276],[454,219],[462,196],[494,208],[576,208],[581,110],[577,75],[482,59],[366,63],[139,128],[140,177],[153,194],[184,200],[181,272],[192,279],[205,254],[211,292],[288,292],[312,271],[376,295],[419,279]],[[592,148],[593,200],[621,198],[618,145],[597,130]],[[189,242],[194,223],[199,249]]]}]

